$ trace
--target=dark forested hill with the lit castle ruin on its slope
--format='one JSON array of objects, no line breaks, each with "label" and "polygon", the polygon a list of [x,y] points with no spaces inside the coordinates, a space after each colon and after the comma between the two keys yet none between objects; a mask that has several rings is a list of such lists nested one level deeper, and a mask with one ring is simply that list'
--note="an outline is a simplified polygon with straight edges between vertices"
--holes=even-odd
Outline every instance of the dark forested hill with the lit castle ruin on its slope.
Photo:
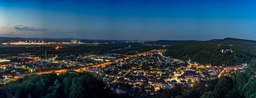
[{"label": "dark forested hill with the lit castle ruin on its slope", "polygon": [[256,41],[224,38],[206,41],[158,40],[148,44],[169,45],[167,56],[203,64],[238,65],[256,58]]}]

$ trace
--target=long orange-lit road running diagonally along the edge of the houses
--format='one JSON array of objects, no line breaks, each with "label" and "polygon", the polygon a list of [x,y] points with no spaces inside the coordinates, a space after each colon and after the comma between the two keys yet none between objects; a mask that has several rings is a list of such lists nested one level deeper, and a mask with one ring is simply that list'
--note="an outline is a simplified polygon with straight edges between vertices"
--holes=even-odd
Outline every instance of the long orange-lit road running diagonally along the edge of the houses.
[{"label": "long orange-lit road running diagonally along the edge of the houses", "polygon": [[[146,51],[144,53],[138,53],[138,54],[135,54],[135,55],[128,55],[128,56],[126,56],[124,58],[120,58],[120,59],[114,60],[114,62],[120,62],[120,61],[123,61],[123,60],[127,60],[129,58],[132,58],[132,57],[137,57],[139,55],[146,55],[146,54],[154,52],[154,51],[156,51],[156,50],[149,50],[149,51]],[[86,71],[90,67],[99,67],[99,66],[105,67],[106,65],[110,65],[111,63],[112,62],[103,62],[103,63],[96,64],[96,65],[90,65],[88,67],[78,68],[78,69],[75,69],[74,71],[76,71],[76,72],[83,72],[83,71]],[[32,72],[32,73],[28,73],[28,74],[17,75],[17,76],[14,77],[14,79],[17,80],[19,78],[23,78],[23,77],[28,76],[28,75],[42,75],[42,74],[49,74],[49,73],[52,73],[52,72],[63,73],[63,72],[68,72],[68,70],[49,70],[49,71],[45,71],[45,72]]]}]

